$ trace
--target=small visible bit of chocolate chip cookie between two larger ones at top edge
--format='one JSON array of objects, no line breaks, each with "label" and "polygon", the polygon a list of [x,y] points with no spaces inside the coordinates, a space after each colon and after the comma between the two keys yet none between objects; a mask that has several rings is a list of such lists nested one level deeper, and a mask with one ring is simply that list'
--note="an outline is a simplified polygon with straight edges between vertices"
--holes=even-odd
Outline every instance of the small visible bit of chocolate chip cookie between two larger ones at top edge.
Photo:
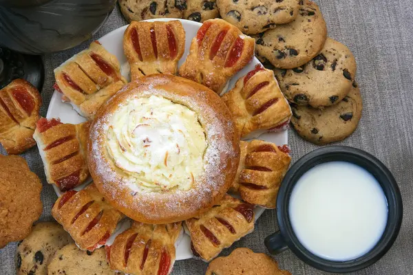
[{"label": "small visible bit of chocolate chip cookie between two larger ones at top edge", "polygon": [[184,19],[204,22],[220,17],[215,0],[187,0],[187,6],[187,10],[184,11]]}]

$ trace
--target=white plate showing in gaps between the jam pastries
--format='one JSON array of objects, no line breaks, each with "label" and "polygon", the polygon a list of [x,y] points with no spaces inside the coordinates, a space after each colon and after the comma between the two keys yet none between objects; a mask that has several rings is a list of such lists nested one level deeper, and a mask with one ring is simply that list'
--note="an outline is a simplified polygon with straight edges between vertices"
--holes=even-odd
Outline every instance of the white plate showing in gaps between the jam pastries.
[{"label": "white plate showing in gaps between the jam pastries", "polygon": [[[177,20],[177,19],[156,19],[156,20],[148,20],[148,21],[170,21],[170,20]],[[191,41],[193,37],[196,36],[196,32],[198,32],[198,29],[202,25],[201,23],[194,22],[194,21],[189,21],[189,20],[183,20],[183,19],[178,19],[181,21],[182,26],[184,27],[184,30],[186,32],[186,42],[185,42],[185,52],[182,58],[180,59],[178,66],[182,65],[184,62],[185,58],[189,54],[189,47],[191,45]],[[106,34],[103,36],[101,39],[98,39],[98,41],[105,47],[105,49],[110,52],[111,54],[114,54],[117,58],[118,61],[120,62],[121,65],[121,72],[125,78],[129,79],[129,65],[127,64],[127,59],[125,54],[123,54],[123,33],[125,32],[127,28],[127,25],[118,28],[112,32],[109,32],[109,34]],[[229,81],[229,89],[234,87],[235,82],[238,80],[238,78],[241,78],[248,72],[250,72],[255,65],[260,63],[257,58],[254,57],[253,61],[249,63],[244,69],[242,69],[240,72],[235,74],[235,76]],[[76,111],[72,108],[70,104],[64,103],[61,100],[61,94],[58,91],[54,91],[54,94],[52,96],[52,100],[50,100],[50,105],[49,109],[47,110],[47,115],[46,118],[60,118],[61,122],[63,123],[73,123],[73,124],[78,124],[81,122],[85,122],[85,118],[83,118],[81,115],[78,115]],[[264,135],[261,135],[260,140],[265,140],[267,142],[273,142],[278,145],[283,145],[288,143],[288,134],[287,131],[282,131],[281,133],[266,133]],[[82,186],[78,186],[75,188],[76,190],[81,190],[82,188],[85,187],[85,184]],[[56,191],[56,194],[60,197],[61,192],[56,186],[53,185],[54,190]],[[255,220],[257,220],[262,212],[264,212],[264,208],[261,207],[256,207],[255,210]],[[184,259],[189,259],[193,257],[193,254],[191,252],[190,245],[191,244],[191,239],[189,239],[189,236],[187,234],[184,234],[182,236],[182,239],[180,243],[178,243],[178,247],[176,250],[176,260],[184,260]]]}]

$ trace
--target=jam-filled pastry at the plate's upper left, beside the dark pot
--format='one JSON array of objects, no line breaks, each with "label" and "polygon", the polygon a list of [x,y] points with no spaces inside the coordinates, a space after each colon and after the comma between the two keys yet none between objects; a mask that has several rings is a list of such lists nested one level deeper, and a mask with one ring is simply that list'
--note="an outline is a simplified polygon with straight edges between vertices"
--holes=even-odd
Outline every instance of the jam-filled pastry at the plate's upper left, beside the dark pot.
[{"label": "jam-filled pastry at the plate's upper left, beside the dark pot", "polygon": [[54,69],[54,77],[54,88],[88,119],[94,118],[100,105],[126,83],[116,56],[109,54],[98,41]]}]

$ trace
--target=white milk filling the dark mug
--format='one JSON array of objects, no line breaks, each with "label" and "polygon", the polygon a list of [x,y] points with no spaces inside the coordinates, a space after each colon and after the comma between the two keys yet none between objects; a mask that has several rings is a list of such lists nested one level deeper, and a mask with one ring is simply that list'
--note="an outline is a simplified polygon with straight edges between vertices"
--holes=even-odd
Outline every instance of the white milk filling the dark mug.
[{"label": "white milk filling the dark mug", "polygon": [[295,184],[288,210],[300,243],[330,261],[348,261],[369,252],[388,220],[379,182],[350,162],[310,168]]}]

